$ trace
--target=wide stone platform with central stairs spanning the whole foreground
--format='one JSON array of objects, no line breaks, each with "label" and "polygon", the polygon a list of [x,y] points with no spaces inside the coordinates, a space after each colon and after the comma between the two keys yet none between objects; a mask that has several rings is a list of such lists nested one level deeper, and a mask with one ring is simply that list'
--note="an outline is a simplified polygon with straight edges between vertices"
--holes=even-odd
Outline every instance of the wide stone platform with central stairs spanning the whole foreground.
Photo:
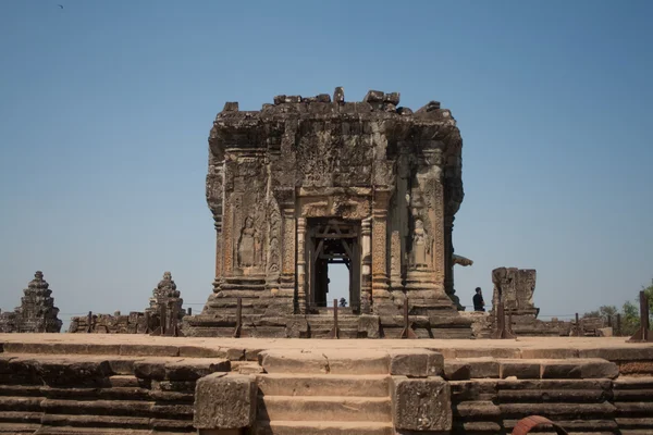
[{"label": "wide stone platform with central stairs spanning the whole foreground", "polygon": [[653,344],[0,334],[3,434],[653,433]]}]

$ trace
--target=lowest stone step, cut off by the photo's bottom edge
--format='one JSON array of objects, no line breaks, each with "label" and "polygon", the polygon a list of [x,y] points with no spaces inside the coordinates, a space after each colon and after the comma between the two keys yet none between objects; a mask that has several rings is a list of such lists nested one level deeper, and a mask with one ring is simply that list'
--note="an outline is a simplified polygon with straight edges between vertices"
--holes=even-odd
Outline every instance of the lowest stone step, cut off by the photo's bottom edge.
[{"label": "lowest stone step, cut off by the photo's bottom edge", "polygon": [[392,423],[350,421],[259,421],[255,435],[394,435]]}]

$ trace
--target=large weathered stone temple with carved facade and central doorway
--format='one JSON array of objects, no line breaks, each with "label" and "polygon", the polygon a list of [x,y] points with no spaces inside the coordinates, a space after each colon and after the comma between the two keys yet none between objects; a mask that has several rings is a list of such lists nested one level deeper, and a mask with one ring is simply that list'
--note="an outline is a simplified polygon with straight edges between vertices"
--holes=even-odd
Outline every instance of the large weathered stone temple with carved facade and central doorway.
[{"label": "large weathered stone temple with carved facade and central doorway", "polygon": [[454,215],[463,201],[463,140],[431,101],[342,88],[278,96],[260,111],[227,102],[209,137],[207,200],[215,281],[192,335],[226,335],[238,298],[256,336],[315,337],[332,325],[328,266],[349,271],[349,336],[398,336],[404,300],[420,336],[468,337],[454,295]]}]

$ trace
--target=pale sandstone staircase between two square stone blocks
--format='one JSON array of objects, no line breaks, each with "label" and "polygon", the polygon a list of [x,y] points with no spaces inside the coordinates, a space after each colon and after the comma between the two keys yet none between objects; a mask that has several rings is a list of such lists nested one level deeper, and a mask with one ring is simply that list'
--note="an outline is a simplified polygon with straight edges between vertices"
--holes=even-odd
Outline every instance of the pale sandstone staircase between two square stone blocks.
[{"label": "pale sandstone staircase between two square stone blocks", "polygon": [[394,434],[386,368],[286,362],[257,375],[256,435]]}]

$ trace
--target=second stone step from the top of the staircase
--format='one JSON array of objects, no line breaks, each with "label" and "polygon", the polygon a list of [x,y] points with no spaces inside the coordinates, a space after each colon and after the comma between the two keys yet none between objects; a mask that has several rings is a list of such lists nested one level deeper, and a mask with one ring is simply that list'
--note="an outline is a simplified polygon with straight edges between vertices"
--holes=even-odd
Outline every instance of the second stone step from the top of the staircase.
[{"label": "second stone step from the top of the staircase", "polygon": [[259,391],[268,396],[389,397],[387,375],[271,373],[257,376]]}]

